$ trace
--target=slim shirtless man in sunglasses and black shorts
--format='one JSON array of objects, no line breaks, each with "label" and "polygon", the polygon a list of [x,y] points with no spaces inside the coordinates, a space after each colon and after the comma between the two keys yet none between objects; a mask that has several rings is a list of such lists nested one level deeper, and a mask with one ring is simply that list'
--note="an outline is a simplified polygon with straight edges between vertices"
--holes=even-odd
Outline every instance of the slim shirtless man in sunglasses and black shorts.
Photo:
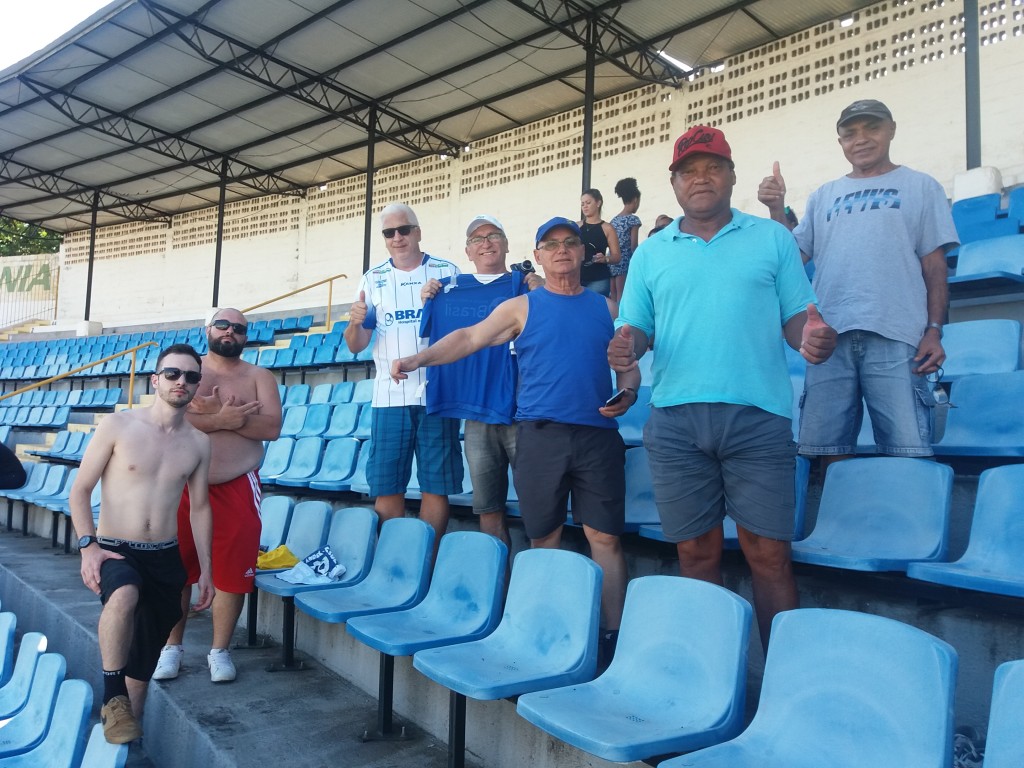
[{"label": "slim shirtless man in sunglasses and black shorts", "polygon": [[[142,735],[142,707],[160,649],[181,615],[185,572],[177,537],[188,531],[201,566],[198,605],[213,599],[210,583],[210,439],[185,420],[203,376],[196,350],[165,349],[152,383],[150,408],[103,419],[71,490],[71,513],[82,554],[82,581],[102,598],[99,651],[103,664],[100,716],[112,743]],[[98,535],[91,495],[102,480]],[[179,527],[182,488],[194,500]]]}]

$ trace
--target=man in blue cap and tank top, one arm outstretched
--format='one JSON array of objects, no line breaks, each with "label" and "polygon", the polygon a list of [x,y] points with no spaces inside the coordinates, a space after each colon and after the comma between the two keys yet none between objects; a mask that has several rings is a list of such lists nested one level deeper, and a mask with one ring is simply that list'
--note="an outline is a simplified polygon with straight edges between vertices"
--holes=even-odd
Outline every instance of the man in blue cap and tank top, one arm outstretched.
[{"label": "man in blue cap and tank top, one arm outstretched", "polygon": [[614,333],[614,302],[580,285],[584,247],[574,221],[556,217],[537,230],[534,256],[546,284],[500,304],[483,321],[391,365],[403,381],[423,366],[462,359],[515,340],[519,390],[513,479],[523,527],[534,547],[558,547],[569,495],[601,566],[605,660],[613,651],[626,596],[625,446],[615,417],[636,402],[640,373],[616,374],[622,396],[611,398],[606,350]]}]

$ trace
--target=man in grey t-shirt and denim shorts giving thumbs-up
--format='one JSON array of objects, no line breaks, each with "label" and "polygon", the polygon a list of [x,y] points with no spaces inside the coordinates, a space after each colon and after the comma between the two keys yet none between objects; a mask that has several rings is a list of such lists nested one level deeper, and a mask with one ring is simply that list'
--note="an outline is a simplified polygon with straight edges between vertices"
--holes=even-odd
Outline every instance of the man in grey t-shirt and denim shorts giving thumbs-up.
[{"label": "man in grey t-shirt and denim shorts giving thumbs-up", "polygon": [[800,453],[852,455],[866,404],[880,454],[931,456],[925,377],[945,359],[945,256],[957,245],[949,204],[931,176],[892,162],[896,123],[881,101],[854,101],[836,129],[851,171],[812,193],[799,224],[778,163],[758,187],[814,260],[821,314],[840,334],[833,356],[807,370]]}]

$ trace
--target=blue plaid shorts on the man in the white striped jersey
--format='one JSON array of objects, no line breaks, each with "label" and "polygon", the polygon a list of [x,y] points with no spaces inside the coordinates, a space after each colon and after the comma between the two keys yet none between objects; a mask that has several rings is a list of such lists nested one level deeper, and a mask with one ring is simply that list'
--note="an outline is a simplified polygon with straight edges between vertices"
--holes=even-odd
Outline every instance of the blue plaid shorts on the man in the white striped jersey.
[{"label": "blue plaid shorts on the man in the white striped jersey", "polygon": [[462,493],[459,420],[429,416],[423,406],[375,408],[371,415],[367,482],[371,496],[404,494],[416,456],[420,490]]}]

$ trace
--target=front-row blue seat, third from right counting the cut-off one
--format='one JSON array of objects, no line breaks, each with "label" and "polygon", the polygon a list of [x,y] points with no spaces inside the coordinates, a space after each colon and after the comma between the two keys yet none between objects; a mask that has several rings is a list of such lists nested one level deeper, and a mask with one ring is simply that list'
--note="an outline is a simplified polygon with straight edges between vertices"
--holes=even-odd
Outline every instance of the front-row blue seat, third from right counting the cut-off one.
[{"label": "front-row blue seat, third from right counting the cut-off one", "polygon": [[516,712],[604,760],[689,752],[739,734],[752,610],[713,584],[634,579],[615,655],[588,683],[525,693]]}]

